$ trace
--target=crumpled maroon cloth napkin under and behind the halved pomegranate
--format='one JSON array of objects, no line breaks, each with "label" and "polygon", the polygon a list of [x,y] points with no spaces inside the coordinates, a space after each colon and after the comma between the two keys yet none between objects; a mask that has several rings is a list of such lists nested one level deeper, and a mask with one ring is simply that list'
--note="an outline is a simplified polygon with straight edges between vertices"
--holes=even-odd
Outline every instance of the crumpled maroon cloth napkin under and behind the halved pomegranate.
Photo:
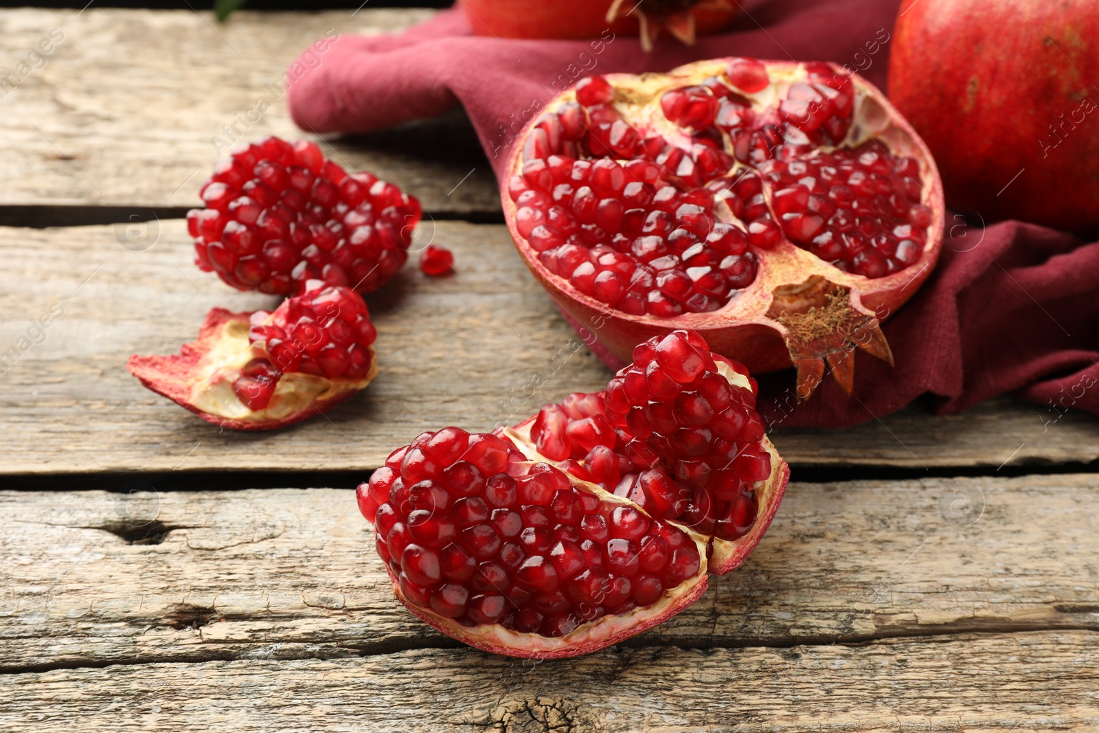
[{"label": "crumpled maroon cloth napkin under and behind the halved pomegranate", "polygon": [[[289,89],[304,130],[366,132],[462,103],[499,174],[524,120],[589,74],[664,71],[699,58],[756,56],[846,64],[885,87],[897,0],[762,0],[730,32],[693,47],[660,38],[518,41],[471,35],[443,11],[401,35],[342,36]],[[885,40],[885,42],[882,42]],[[954,412],[1019,391],[1055,421],[1068,409],[1099,414],[1099,243],[1003,222],[970,229],[957,218],[936,271],[884,326],[896,367],[858,354],[855,390],[831,380],[803,404],[792,371],[764,375],[761,409],[771,424],[845,426],[899,410],[919,396]],[[601,351],[597,348],[597,352]],[[614,358],[599,354],[609,366]]]}]

